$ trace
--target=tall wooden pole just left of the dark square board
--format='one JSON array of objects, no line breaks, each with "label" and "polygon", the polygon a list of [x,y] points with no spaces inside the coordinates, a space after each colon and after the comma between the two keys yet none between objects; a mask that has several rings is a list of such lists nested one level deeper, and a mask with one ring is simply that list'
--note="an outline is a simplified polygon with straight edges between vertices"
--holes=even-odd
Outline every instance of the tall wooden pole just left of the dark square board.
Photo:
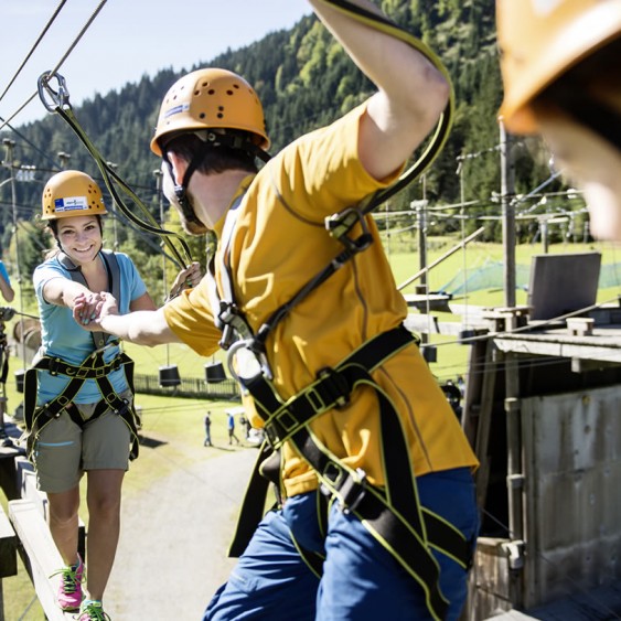
[{"label": "tall wooden pole just left of the dark square board", "polygon": [[515,168],[512,154],[511,136],[506,133],[501,120],[501,201],[502,201],[502,232],[504,251],[504,304],[515,307]]}]

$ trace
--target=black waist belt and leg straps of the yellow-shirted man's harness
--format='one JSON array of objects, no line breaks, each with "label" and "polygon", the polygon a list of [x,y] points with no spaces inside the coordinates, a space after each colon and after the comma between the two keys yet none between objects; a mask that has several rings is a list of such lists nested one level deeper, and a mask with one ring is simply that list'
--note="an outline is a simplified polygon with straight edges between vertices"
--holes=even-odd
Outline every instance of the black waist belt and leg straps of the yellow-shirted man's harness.
[{"label": "black waist belt and leg straps of the yellow-shirted man's harness", "polygon": [[[286,403],[278,397],[264,374],[242,378],[243,386],[253,396],[257,413],[264,420],[267,442],[261,449],[244,499],[231,547],[232,556],[243,553],[265,506],[269,483],[260,479],[259,460],[268,459],[285,442],[290,442],[317,473],[320,492],[338,500],[342,511],[358,517],[421,586],[433,618],[445,617],[447,602],[438,587],[439,568],[430,548],[450,556],[467,569],[470,544],[460,531],[419,505],[409,451],[396,408],[371,375],[390,356],[416,342],[414,335],[403,326],[379,334],[335,367],[321,370],[315,382]],[[309,424],[318,416],[345,406],[355,389],[363,385],[372,387],[378,400],[386,477],[384,489],[372,485],[362,470],[347,468],[309,429]],[[265,469],[263,474],[265,477]],[[322,512],[325,512],[325,507],[323,505]],[[320,523],[325,522],[326,514],[320,514]],[[311,567],[320,566],[317,555],[307,552],[303,556],[307,563],[312,564]]]}]

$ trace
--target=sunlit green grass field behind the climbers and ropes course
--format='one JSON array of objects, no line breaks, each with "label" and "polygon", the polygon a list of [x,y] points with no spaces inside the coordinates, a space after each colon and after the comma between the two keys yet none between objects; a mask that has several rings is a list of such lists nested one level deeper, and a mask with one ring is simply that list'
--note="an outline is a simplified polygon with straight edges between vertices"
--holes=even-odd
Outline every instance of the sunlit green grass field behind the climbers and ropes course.
[{"label": "sunlit green grass field behind the climbers and ropes course", "polygon": [[[430,265],[443,255],[456,243],[454,239],[436,243],[428,253],[427,264]],[[589,245],[556,245],[550,247],[550,253],[578,253],[597,249],[602,253],[602,264],[612,264],[621,260],[615,254],[615,248],[608,244]],[[538,246],[520,246],[516,249],[516,263],[529,265],[534,254],[542,254]],[[431,291],[438,290],[449,282],[462,269],[475,270],[485,260],[502,260],[503,249],[500,244],[470,244],[464,251],[458,250],[446,261],[429,271],[428,282]],[[414,253],[389,253],[390,264],[397,285],[405,282],[411,275],[419,270],[418,256]],[[414,282],[404,289],[404,292],[414,292]],[[620,292],[617,285],[598,293],[598,301],[614,300]],[[526,293],[518,291],[516,303],[526,303]],[[19,296],[15,301],[19,300]],[[472,306],[499,307],[504,306],[502,288],[489,291],[472,292],[469,298],[456,300],[459,303]],[[15,304],[14,308],[18,308]],[[33,313],[32,306],[23,312]],[[441,313],[440,321],[460,321],[457,315]],[[8,332],[11,325],[8,325]],[[438,362],[431,364],[431,371],[440,381],[454,378],[464,374],[469,347],[457,344],[448,338],[432,336],[432,344],[438,344]],[[440,343],[442,343],[440,345]],[[204,377],[204,365],[211,360],[202,358],[184,345],[160,345],[158,347],[126,346],[128,354],[136,361],[137,373],[158,373],[160,366],[175,364],[182,377]],[[216,356],[222,360],[222,356]],[[10,360],[10,373],[7,382],[8,410],[11,413],[21,401],[21,395],[15,390],[13,372],[21,368],[19,357]],[[137,405],[143,413],[143,436],[149,441],[162,442],[158,451],[143,450],[141,457],[131,464],[126,479],[124,494],[137,493],[148,489],[156,478],[163,477],[173,469],[184,468],[197,460],[210,459],[214,453],[203,449],[203,415],[206,409],[212,411],[212,436],[214,439],[226,438],[224,410],[233,404],[225,401],[204,401],[197,399],[182,399],[175,397],[157,397],[137,395]],[[237,404],[235,404],[237,405]],[[1,496],[1,494],[0,494]],[[6,507],[6,499],[2,497]],[[87,521],[85,511],[83,520]],[[42,611],[35,601],[34,591],[25,570],[20,566],[18,577],[3,580],[4,618],[7,621],[34,621],[42,618]],[[31,606],[32,604],[32,606]],[[29,606],[31,608],[29,609]]]}]

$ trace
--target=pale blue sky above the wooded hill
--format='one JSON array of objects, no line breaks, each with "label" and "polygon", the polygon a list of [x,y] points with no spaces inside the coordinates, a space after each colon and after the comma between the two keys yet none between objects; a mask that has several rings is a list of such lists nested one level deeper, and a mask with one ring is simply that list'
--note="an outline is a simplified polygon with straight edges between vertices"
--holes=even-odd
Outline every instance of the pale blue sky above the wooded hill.
[{"label": "pale blue sky above the wooded hill", "polygon": [[[0,95],[60,4],[60,0],[0,0]],[[99,4],[100,0],[66,0],[0,99],[0,117],[11,117],[36,92],[38,77],[58,64]],[[77,106],[144,74],[208,62],[228,47],[290,28],[311,12],[306,0],[107,0],[58,73],[67,82],[71,104]],[[46,114],[35,97],[11,124],[19,127]]]}]

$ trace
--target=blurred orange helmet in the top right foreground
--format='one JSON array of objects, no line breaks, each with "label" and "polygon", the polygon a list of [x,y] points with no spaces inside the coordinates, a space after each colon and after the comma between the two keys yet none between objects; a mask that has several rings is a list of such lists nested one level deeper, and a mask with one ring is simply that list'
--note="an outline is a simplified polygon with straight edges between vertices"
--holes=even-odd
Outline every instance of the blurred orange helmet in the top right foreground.
[{"label": "blurred orange helmet in the top right foreground", "polygon": [[533,133],[533,99],[621,35],[621,0],[496,0],[496,25],[505,90],[500,116],[508,131]]}]

